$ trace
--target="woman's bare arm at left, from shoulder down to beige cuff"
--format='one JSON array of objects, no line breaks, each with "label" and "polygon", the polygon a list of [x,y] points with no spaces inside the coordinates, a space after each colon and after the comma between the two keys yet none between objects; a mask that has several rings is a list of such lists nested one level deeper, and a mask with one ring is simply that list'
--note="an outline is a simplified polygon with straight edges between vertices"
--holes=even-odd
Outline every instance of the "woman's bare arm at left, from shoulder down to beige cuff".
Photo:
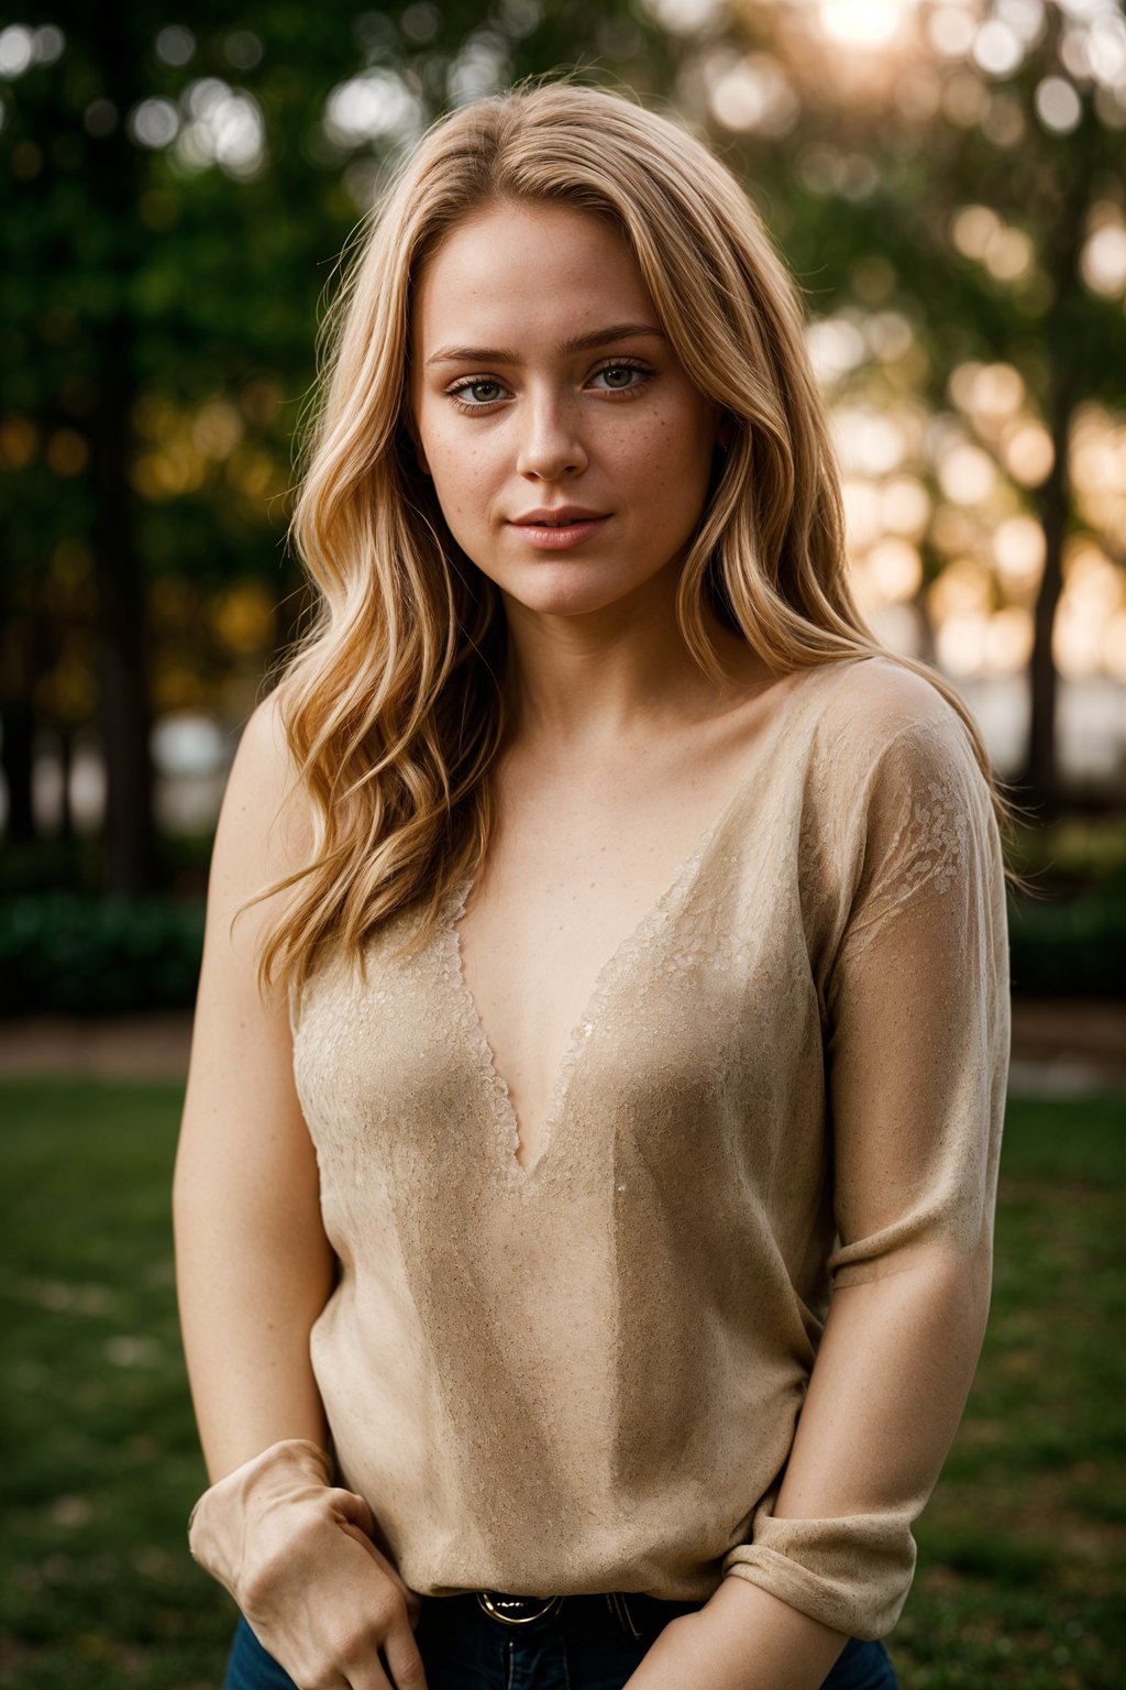
[{"label": "woman's bare arm at left, from shoulder down to beige cuff", "polygon": [[255,980],[273,901],[252,904],[230,931],[240,902],[307,850],[297,804],[279,810],[287,784],[267,698],[243,730],[219,811],[172,1193],[181,1325],[213,1480],[280,1438],[328,1443],[309,1330],[334,1257],[285,995],[263,1000]]}]

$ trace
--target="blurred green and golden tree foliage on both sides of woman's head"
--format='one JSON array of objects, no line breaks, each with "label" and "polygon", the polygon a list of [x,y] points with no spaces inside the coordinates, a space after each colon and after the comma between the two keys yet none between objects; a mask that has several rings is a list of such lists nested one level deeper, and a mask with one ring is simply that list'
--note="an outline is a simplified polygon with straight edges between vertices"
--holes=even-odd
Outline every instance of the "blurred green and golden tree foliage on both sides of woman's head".
[{"label": "blurred green and golden tree foliage on both sides of woman's head", "polygon": [[[152,886],[154,717],[241,720],[302,613],[284,544],[294,439],[349,232],[451,103],[576,64],[711,125],[814,316],[910,324],[901,357],[849,380],[874,404],[910,395],[932,433],[977,428],[1004,509],[1040,522],[1025,776],[1050,799],[1069,536],[1123,561],[1121,522],[1084,509],[1072,466],[1084,407],[1114,414],[1123,395],[1121,289],[1091,286],[1085,260],[1101,221],[1126,223],[1126,34],[1104,0],[868,12],[896,3],[898,34],[871,51],[827,27],[849,7],[861,19],[859,0],[192,0],[176,22],[155,0],[59,0],[46,22],[0,27],[8,840],[34,835],[35,735],[66,767],[95,732],[105,882]],[[1057,112],[1074,103],[1065,122],[1045,117],[1045,84]],[[1003,264],[996,240],[991,259],[989,230],[1026,262]],[[1042,470],[1015,478],[996,431],[952,417],[952,384],[976,367],[1015,372],[1050,443]],[[989,515],[944,512],[934,453],[917,473],[925,646],[950,534],[988,554]]]}]

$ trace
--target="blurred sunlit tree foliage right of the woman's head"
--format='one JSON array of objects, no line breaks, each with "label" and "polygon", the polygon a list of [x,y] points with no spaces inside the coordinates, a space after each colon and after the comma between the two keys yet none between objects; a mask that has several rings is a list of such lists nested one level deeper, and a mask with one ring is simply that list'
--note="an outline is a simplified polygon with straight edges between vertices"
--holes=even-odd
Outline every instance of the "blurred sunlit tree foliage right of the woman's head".
[{"label": "blurred sunlit tree foliage right of the woman's head", "polygon": [[[993,372],[994,387],[1020,395],[1023,458],[1008,451],[1015,433],[1001,438],[983,407],[962,416],[1001,470],[1011,509],[1026,505],[1043,531],[1018,781],[1033,803],[1058,804],[1053,630],[1069,536],[1092,532],[1119,568],[1126,556],[1121,529],[1084,509],[1074,473],[1084,407],[1112,411],[1126,387],[1119,5],[697,5],[680,42],[680,90],[728,139],[814,311],[851,304],[861,318],[893,313],[910,324],[905,380],[932,426],[959,370]],[[972,534],[934,473],[935,455],[925,456],[934,517],[923,583],[961,546],[984,556],[991,542],[989,515]],[[954,544],[942,541],[944,522]]]}]

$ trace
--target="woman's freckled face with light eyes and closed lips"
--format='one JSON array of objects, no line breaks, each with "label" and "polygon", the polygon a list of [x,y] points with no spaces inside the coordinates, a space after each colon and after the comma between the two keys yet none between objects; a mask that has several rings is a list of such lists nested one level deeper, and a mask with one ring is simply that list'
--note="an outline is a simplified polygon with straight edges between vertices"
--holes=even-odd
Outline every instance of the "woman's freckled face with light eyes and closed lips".
[{"label": "woman's freckled face with light eyes and closed lips", "polygon": [[419,277],[410,401],[451,534],[510,600],[581,615],[675,590],[719,411],[609,223],[535,203],[454,228]]}]

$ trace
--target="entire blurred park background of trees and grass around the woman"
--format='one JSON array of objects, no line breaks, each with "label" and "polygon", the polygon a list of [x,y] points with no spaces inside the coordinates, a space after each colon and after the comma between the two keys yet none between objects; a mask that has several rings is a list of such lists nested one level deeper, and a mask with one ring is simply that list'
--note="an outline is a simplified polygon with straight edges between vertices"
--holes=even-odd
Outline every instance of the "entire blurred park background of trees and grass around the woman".
[{"label": "entire blurred park background of trees and grass around the woman", "polygon": [[[704,134],[804,291],[858,597],[1028,821],[983,1371],[905,1690],[1118,1685],[1126,1154],[1119,0],[127,0],[0,19],[0,1671],[218,1683],[167,1180],[214,818],[307,597],[338,257],[451,105],[579,66]],[[5,1317],[7,1318],[7,1317]],[[24,1453],[25,1452],[25,1453]]]}]

